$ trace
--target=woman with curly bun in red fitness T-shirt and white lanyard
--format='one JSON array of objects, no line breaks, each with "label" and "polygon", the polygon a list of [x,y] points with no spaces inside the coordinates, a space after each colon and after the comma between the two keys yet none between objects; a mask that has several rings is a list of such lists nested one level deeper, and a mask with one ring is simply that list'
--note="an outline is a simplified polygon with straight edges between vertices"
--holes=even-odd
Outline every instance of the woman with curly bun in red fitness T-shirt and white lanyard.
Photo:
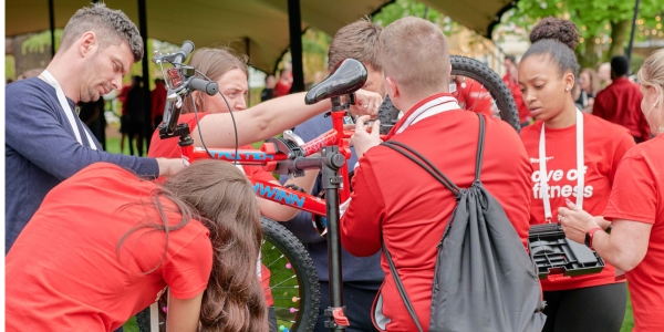
[{"label": "woman with curly bun in red fitness T-shirt and white lanyard", "polygon": [[[634,146],[626,128],[577,110],[571,90],[579,71],[572,51],[578,39],[572,22],[544,19],[532,30],[533,44],[519,66],[523,101],[538,121],[521,131],[533,168],[531,225],[558,222],[557,210],[567,199],[601,215],[618,164]],[[620,331],[625,286],[613,267],[542,280],[542,289],[548,304],[542,331]]]}]

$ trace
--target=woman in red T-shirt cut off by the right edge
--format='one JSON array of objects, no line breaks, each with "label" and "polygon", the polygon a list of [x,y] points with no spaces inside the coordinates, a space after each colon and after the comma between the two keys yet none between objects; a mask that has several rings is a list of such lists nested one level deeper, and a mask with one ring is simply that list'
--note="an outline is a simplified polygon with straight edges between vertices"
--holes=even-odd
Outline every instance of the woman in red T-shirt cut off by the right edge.
[{"label": "woman in red T-shirt cut off by the right edge", "polygon": [[[604,218],[611,235],[573,204],[560,208],[560,222],[572,240],[587,243],[604,261],[626,271],[634,309],[634,331],[664,331],[664,50],[639,71],[645,114],[655,138],[630,149],[620,163]],[[585,207],[583,207],[585,209]],[[599,221],[599,222],[598,222]],[[588,240],[587,240],[588,239]]]}]

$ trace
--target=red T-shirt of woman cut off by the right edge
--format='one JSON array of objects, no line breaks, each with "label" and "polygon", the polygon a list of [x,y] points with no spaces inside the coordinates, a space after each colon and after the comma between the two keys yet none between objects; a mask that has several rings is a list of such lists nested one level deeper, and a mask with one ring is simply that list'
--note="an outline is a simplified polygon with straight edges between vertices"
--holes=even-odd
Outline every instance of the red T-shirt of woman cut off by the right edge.
[{"label": "red T-shirt of woman cut off by the right edge", "polygon": [[664,135],[630,149],[618,167],[606,219],[652,224],[647,252],[626,272],[635,332],[664,331]]}]

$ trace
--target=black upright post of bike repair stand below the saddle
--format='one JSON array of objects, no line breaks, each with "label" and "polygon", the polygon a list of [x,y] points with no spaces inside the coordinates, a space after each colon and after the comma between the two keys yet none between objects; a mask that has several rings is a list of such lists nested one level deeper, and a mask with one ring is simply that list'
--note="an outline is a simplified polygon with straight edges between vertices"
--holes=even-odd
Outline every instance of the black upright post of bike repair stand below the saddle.
[{"label": "black upright post of bike repair stand below the saddle", "polygon": [[339,169],[344,167],[345,159],[339,153],[338,146],[328,146],[321,151],[323,159],[322,187],[325,191],[328,212],[328,262],[330,277],[330,304],[325,309],[325,328],[333,331],[345,331],[350,325],[343,307],[343,280],[341,274],[341,237],[339,231],[339,188],[343,178]]}]

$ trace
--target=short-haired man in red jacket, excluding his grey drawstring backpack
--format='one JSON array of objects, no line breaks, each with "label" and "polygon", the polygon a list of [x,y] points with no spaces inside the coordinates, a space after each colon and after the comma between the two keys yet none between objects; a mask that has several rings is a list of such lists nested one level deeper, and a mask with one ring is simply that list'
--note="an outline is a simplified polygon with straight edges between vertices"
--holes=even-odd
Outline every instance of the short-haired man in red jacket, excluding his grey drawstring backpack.
[{"label": "short-haired man in red jacket, excluding his grey drawstring backpack", "polygon": [[[404,18],[385,28],[380,45],[386,92],[397,108],[407,111],[386,139],[411,146],[456,185],[469,187],[475,178],[479,121],[447,93],[450,62],[443,32],[428,21]],[[485,116],[485,121],[481,181],[526,243],[530,163],[513,128],[495,117]],[[428,326],[437,245],[456,200],[418,165],[377,146],[378,126],[374,123],[369,134],[362,118],[356,125],[353,143],[360,162],[341,220],[341,240],[355,256],[373,255],[384,241],[421,324]],[[374,324],[386,331],[416,331],[384,257],[382,267],[385,281],[374,302]]]}]

